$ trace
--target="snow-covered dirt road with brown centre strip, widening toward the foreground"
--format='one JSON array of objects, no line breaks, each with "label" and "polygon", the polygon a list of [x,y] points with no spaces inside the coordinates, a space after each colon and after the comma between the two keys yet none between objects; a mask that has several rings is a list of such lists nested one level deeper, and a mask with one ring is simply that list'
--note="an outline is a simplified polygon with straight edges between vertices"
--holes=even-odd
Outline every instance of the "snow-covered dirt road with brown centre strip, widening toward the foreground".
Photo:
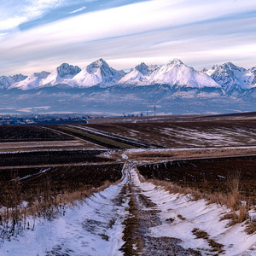
[{"label": "snow-covered dirt road with brown centre strip, widening toward the foreground", "polygon": [[[64,216],[28,219],[34,228],[4,241],[0,255],[256,255],[256,234],[219,220],[226,208],[141,182],[137,163],[125,154],[123,160],[120,183],[67,207]],[[200,231],[207,236],[198,238]]]}]

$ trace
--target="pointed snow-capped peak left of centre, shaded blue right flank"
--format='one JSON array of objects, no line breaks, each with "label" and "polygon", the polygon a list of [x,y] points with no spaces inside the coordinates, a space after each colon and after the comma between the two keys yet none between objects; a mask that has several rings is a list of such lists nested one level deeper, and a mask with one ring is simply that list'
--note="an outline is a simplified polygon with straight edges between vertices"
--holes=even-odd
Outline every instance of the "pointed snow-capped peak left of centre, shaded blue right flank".
[{"label": "pointed snow-capped peak left of centre, shaded blue right flank", "polygon": [[92,62],[89,66],[73,77],[71,84],[78,87],[90,87],[100,85],[101,87],[117,84],[125,75],[124,71],[117,71],[108,66],[103,59]]}]

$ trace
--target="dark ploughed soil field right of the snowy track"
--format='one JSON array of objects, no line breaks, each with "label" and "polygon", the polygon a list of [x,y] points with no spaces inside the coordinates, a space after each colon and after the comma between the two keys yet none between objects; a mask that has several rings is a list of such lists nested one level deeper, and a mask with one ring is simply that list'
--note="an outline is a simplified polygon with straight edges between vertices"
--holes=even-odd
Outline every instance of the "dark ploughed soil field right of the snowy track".
[{"label": "dark ploughed soil field right of the snowy track", "polygon": [[228,193],[227,179],[238,173],[243,200],[256,203],[256,156],[216,158],[205,160],[174,160],[166,163],[138,166],[146,178],[167,180],[182,187],[201,192]]}]

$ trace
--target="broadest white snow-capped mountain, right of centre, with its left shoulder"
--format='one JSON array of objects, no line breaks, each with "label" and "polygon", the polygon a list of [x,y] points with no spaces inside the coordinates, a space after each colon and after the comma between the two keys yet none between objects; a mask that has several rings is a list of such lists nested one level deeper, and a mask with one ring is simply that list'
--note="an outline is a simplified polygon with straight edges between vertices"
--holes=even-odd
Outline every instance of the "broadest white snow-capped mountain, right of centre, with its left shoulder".
[{"label": "broadest white snow-capped mountain, right of centre, with its left shoulder", "polygon": [[171,86],[185,86],[192,88],[216,87],[220,85],[212,80],[207,74],[195,71],[182,61],[174,59],[164,66],[147,66],[144,63],[131,69],[119,84],[169,84]]}]

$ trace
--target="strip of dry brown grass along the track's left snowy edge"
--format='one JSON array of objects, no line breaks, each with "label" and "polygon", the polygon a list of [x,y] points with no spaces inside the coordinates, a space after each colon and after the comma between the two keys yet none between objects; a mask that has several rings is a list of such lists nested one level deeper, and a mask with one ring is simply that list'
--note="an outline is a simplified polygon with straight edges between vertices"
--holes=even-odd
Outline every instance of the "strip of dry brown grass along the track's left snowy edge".
[{"label": "strip of dry brown grass along the track's left snowy edge", "polygon": [[[16,205],[15,207],[2,208],[0,212],[0,245],[5,240],[10,241],[12,236],[19,235],[22,230],[33,230],[36,217],[50,220],[58,215],[65,215],[67,207],[75,206],[78,201],[83,201],[84,198],[107,189],[111,184],[113,183],[106,181],[99,188],[80,189],[73,193],[65,192],[63,195],[58,195],[55,198],[50,196],[49,190],[46,190],[44,197],[34,201],[29,207]],[[30,216],[33,219],[32,223],[28,221]]]}]

